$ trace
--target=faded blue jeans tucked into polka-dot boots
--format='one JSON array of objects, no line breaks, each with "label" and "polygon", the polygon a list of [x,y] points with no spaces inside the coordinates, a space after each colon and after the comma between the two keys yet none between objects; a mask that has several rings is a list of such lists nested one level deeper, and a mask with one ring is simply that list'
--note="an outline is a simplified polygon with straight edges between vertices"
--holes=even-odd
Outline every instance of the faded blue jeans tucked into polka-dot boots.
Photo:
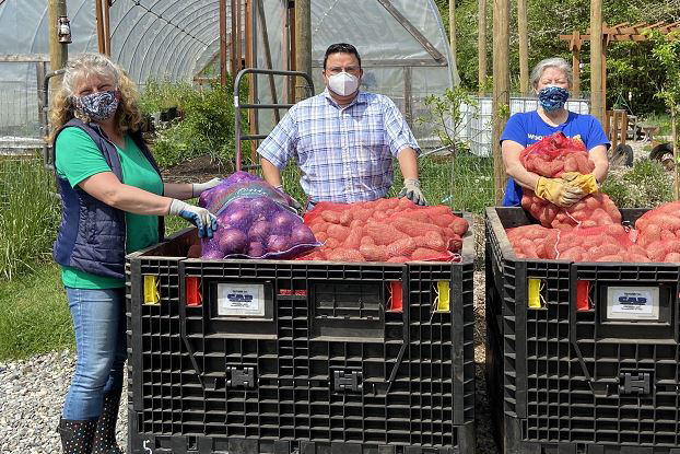
[{"label": "faded blue jeans tucked into polka-dot boots", "polygon": [[93,420],[104,393],[122,389],[127,358],[125,288],[66,289],[75,331],[75,372],[66,396],[63,419]]}]

